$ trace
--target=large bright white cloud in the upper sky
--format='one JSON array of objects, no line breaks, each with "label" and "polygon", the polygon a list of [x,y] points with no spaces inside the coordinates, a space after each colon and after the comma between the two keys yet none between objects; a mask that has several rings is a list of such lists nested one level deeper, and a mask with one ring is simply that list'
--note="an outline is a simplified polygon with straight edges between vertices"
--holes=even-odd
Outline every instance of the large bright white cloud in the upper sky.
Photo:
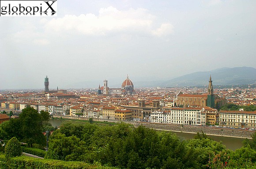
[{"label": "large bright white cloud in the upper sky", "polygon": [[[53,18],[41,23],[45,24],[47,31],[64,33],[74,31],[84,35],[108,35],[112,32],[133,32],[145,33],[153,36],[167,36],[173,32],[173,26],[169,23],[163,23],[160,28],[154,22],[156,17],[146,9],[129,9],[119,11],[114,7],[101,8],[99,15],[81,14],[65,15],[63,18]],[[156,27],[157,29],[154,29]]]}]

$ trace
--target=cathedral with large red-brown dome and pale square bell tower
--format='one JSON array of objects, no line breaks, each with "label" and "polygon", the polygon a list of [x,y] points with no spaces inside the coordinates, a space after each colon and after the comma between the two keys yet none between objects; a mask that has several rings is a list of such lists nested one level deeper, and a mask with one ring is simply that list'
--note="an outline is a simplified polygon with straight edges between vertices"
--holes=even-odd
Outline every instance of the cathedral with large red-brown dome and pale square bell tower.
[{"label": "cathedral with large red-brown dome and pale square bell tower", "polygon": [[[121,85],[121,88],[109,88],[108,81],[103,81],[104,85],[101,88],[101,93],[103,94],[133,94],[135,93],[132,81],[129,79],[128,75]],[[100,87],[100,86],[99,86]],[[99,92],[98,92],[99,93]]]}]

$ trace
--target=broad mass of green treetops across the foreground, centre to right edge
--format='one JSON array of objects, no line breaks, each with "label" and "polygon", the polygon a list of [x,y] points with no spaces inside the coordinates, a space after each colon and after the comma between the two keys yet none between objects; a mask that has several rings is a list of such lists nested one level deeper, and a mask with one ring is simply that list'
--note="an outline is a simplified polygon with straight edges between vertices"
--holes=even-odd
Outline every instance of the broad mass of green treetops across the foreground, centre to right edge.
[{"label": "broad mass of green treetops across the foreground, centre to right edge", "polygon": [[204,133],[180,140],[169,132],[125,123],[65,123],[50,136],[45,158],[100,162],[120,169],[249,169],[256,168],[255,152],[248,144],[237,151],[228,150]]}]

